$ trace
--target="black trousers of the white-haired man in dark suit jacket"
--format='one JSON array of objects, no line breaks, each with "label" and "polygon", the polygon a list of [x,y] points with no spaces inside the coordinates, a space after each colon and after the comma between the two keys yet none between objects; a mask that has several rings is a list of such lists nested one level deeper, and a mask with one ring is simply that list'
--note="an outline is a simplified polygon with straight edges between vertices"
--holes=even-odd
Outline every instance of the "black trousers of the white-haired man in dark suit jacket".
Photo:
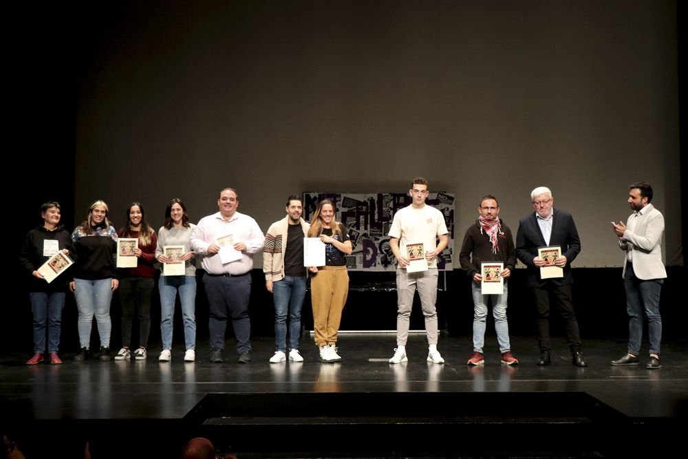
[{"label": "black trousers of the white-haired man in dark suit jacket", "polygon": [[557,286],[551,281],[544,287],[533,287],[537,310],[537,344],[540,351],[550,350],[550,298],[564,321],[566,341],[571,352],[581,350],[581,334],[578,330],[576,313],[573,310],[571,286]]}]

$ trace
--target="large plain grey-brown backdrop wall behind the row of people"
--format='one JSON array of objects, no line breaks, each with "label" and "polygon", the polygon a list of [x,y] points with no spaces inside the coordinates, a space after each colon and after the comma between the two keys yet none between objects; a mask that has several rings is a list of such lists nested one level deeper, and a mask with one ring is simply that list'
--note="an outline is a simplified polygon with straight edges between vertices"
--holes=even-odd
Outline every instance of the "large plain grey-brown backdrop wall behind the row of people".
[{"label": "large plain grey-brown backdrop wall behind the row of people", "polygon": [[579,226],[574,266],[619,266],[609,221],[645,180],[667,264],[682,264],[674,1],[85,8],[75,223],[99,198],[117,227],[132,200],[156,228],[173,197],[198,220],[233,186],[266,230],[291,193],[405,191],[424,175],[456,193],[460,235],[482,195],[515,231],[530,190],[550,186]]}]

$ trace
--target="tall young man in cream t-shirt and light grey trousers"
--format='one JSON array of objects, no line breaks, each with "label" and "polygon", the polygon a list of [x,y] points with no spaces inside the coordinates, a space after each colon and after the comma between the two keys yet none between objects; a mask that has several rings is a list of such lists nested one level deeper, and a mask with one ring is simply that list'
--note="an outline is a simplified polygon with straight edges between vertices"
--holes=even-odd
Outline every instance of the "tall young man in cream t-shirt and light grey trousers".
[{"label": "tall young man in cream t-shirt and light grey trousers", "polygon": [[[425,317],[425,332],[429,344],[427,361],[444,363],[444,359],[437,350],[438,327],[435,302],[438,279],[437,255],[449,244],[449,234],[447,234],[447,225],[444,223],[442,212],[425,204],[429,195],[427,180],[422,177],[414,178],[409,195],[411,195],[411,205],[394,214],[394,221],[389,230],[389,246],[398,262],[396,268],[397,347],[389,363],[409,361],[406,355],[406,341],[409,337],[409,317],[416,288],[418,288]],[[440,239],[439,244],[437,244],[437,239]],[[407,273],[407,266],[411,264],[407,246],[421,243],[428,269]]]}]

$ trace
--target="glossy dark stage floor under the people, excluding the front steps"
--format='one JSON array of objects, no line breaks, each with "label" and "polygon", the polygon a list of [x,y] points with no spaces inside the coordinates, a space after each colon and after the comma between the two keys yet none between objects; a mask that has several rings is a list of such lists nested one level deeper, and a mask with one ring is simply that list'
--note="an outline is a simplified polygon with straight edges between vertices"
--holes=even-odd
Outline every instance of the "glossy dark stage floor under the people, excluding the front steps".
[{"label": "glossy dark stage floor under the people, excluding the front steps", "polygon": [[[530,337],[512,337],[514,354],[521,361],[518,366],[499,364],[493,336],[486,337],[484,367],[465,365],[471,352],[469,337],[440,337],[438,348],[446,363],[427,363],[424,334],[411,335],[409,362],[400,365],[387,363],[394,352],[394,334],[341,334],[341,363],[320,363],[308,335],[302,339],[303,363],[268,363],[271,338],[252,341],[253,363],[248,365],[237,363],[233,350],[225,351],[224,363],[209,363],[207,342],[197,346],[195,363],[182,361],[181,348],[174,350],[170,363],[158,363],[160,348],[151,348],[147,361],[74,362],[72,354],[64,354],[63,365],[27,366],[23,362],[28,354],[11,354],[0,358],[0,401],[5,421],[11,414],[28,423],[112,420],[135,425],[181,420],[206,394],[266,394],[272,401],[275,394],[284,394],[288,401],[320,393],[583,392],[641,422],[685,419],[687,343],[663,344],[663,367],[645,370],[644,365],[609,365],[623,354],[623,341],[586,341],[587,368],[571,364],[563,338],[553,341],[552,364],[546,367],[535,365],[538,352]],[[228,341],[228,349],[233,345]],[[432,400],[438,410],[445,408],[442,398]],[[506,401],[504,413],[508,411]]]}]

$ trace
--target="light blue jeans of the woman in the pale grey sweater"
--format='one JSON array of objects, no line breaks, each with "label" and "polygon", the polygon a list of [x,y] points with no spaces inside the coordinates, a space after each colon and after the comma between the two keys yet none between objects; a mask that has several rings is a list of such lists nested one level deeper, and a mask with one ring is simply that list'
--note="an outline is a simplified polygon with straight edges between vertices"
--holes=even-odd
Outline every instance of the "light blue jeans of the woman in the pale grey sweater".
[{"label": "light blue jeans of the woman in the pale grey sweater", "polygon": [[172,349],[174,306],[178,290],[180,303],[182,303],[182,319],[184,319],[184,343],[186,343],[186,349],[195,349],[196,277],[160,276],[158,290],[160,290],[160,307],[162,309],[162,320],[160,321],[162,349]]}]

